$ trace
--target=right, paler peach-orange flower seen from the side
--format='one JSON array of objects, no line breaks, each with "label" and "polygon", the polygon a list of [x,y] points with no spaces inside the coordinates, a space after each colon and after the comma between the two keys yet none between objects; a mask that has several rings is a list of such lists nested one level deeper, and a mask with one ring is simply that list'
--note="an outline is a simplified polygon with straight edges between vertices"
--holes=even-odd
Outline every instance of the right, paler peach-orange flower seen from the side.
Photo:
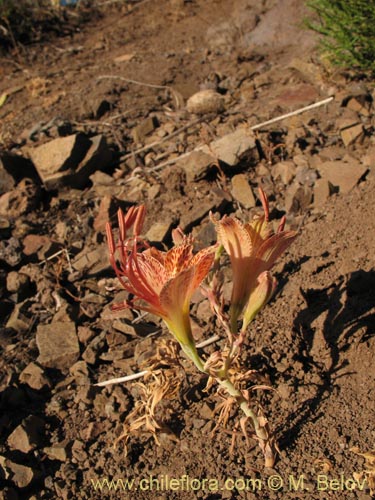
[{"label": "right, paler peach-orange flower seen from the side", "polygon": [[284,231],[285,217],[274,233],[269,224],[268,200],[260,188],[264,215],[242,224],[235,217],[213,220],[219,242],[228,253],[233,272],[230,315],[232,331],[258,284],[258,277],[271,269],[276,259],[296,238],[295,231]]}]

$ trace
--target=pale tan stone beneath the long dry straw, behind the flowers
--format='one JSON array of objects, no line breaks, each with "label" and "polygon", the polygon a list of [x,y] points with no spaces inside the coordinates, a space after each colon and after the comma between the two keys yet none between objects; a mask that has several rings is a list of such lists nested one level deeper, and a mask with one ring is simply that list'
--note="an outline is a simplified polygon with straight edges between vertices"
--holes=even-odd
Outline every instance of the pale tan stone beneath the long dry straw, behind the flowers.
[{"label": "pale tan stone beneath the long dry straw, behind the flowers", "polygon": [[245,128],[239,128],[235,132],[225,135],[210,146],[204,145],[198,148],[207,154],[217,157],[220,161],[233,167],[241,158],[255,149],[255,139],[251,132]]}]

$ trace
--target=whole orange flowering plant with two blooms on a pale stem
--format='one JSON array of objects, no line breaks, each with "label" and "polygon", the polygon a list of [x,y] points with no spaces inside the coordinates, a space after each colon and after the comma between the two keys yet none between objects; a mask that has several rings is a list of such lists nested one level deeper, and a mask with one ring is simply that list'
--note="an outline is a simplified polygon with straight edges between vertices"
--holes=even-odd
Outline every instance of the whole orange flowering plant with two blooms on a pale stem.
[{"label": "whole orange flowering plant with two blooms on a pale stem", "polygon": [[[111,264],[130,297],[114,307],[139,309],[161,317],[197,368],[216,380],[238,403],[245,418],[252,421],[253,435],[263,451],[265,463],[273,466],[277,446],[267,421],[251,408],[248,392],[236,386],[229,370],[242,346],[249,323],[275,290],[276,281],[270,269],[296,237],[294,231],[284,230],[285,218],[276,232],[272,230],[268,200],[261,189],[260,199],[263,215],[247,224],[232,216],[224,216],[218,221],[212,218],[218,242],[197,253],[193,251],[193,238],[180,229],[172,232],[174,245],[166,252],[143,240],[140,236],[145,219],[143,205],[130,208],[126,214],[119,210],[118,241],[115,241],[109,223],[107,239]],[[214,262],[218,262],[223,249],[232,266],[229,315],[218,305],[214,285],[205,292],[228,333],[229,344],[222,352],[213,353],[208,360],[203,360],[191,331],[190,302]],[[242,326],[238,331],[241,318]]]}]

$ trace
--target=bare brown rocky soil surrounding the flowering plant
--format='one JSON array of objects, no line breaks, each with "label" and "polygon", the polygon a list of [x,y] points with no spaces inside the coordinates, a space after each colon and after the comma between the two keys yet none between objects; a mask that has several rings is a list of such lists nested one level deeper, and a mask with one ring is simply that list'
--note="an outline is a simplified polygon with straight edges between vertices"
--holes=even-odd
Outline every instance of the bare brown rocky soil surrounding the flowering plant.
[{"label": "bare brown rocky soil surrounding the flowering plant", "polygon": [[[2,56],[0,498],[371,498],[374,85],[319,63],[301,4],[118,2]],[[214,104],[192,109],[201,90]],[[250,143],[230,161],[233,136],[225,152],[212,145],[238,130]],[[202,144],[219,169],[189,156]],[[80,177],[65,175],[75,155]],[[144,203],[150,241],[170,245],[179,225],[199,248],[215,240],[210,211],[259,211],[257,186],[272,218],[299,231],[242,354],[273,388],[257,397],[275,469],[236,412],[214,430],[220,398],[183,357],[178,393],[158,407],[159,444],[147,432],[118,440],[142,386],[94,384],[147,367],[169,335],[156,317],[111,311],[124,295],[105,222]],[[223,336],[201,296],[192,316],[197,341]]]}]

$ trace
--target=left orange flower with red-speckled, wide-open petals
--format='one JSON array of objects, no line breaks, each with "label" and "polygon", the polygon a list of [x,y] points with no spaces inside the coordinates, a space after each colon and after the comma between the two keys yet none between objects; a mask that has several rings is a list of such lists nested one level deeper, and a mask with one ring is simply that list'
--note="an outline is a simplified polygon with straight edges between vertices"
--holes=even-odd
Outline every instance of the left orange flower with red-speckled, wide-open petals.
[{"label": "left orange flower with red-speckled, wide-open petals", "polygon": [[[134,296],[115,308],[131,307],[160,316],[191,357],[190,350],[194,351],[195,346],[189,318],[190,300],[212,266],[216,246],[193,255],[192,237],[175,230],[175,246],[171,250],[162,252],[148,247],[139,237],[144,217],[143,205],[132,207],[126,215],[122,210],[118,211],[117,245],[111,226],[107,224],[111,264],[123,288]],[[128,237],[132,226],[133,236]],[[116,251],[119,253],[119,263],[116,261]],[[135,303],[139,300],[143,303]]]}]

